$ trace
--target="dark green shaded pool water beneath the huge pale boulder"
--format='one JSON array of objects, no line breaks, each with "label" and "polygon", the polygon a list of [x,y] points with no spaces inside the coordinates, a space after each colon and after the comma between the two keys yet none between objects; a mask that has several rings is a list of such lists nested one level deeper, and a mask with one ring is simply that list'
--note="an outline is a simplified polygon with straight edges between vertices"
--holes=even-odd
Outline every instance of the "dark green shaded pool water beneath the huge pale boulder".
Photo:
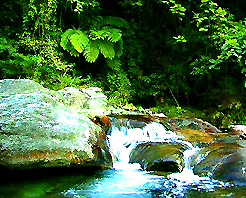
[{"label": "dark green shaded pool water beneath the huge pale boulder", "polygon": [[94,170],[40,169],[1,170],[0,198],[55,198],[60,192],[94,179]]}]

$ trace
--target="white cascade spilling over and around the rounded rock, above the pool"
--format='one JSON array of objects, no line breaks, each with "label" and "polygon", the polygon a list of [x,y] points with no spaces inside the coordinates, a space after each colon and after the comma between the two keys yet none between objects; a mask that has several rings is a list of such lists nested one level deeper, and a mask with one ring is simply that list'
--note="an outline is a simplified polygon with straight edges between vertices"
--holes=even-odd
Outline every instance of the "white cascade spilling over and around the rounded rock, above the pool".
[{"label": "white cascade spilling over and around the rounded rock, above the pool", "polygon": [[157,122],[147,124],[142,128],[131,128],[129,126],[112,126],[111,134],[108,135],[109,147],[116,156],[114,168],[125,167],[129,162],[131,150],[139,143],[144,142],[168,142],[180,143],[187,148],[184,151],[184,167],[191,169],[190,158],[199,150],[190,142],[182,140],[182,137],[172,131],[167,131],[163,125]]}]

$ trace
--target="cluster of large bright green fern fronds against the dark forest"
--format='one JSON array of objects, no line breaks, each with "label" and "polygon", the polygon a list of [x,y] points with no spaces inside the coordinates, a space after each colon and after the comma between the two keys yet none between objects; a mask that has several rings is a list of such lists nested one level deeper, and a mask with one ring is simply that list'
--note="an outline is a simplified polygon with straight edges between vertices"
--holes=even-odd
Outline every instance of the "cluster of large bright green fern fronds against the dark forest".
[{"label": "cluster of large bright green fern fronds against the dark forest", "polygon": [[118,17],[97,17],[100,25],[111,25],[96,28],[93,24],[90,30],[68,29],[62,34],[61,46],[71,55],[83,53],[88,62],[95,62],[99,52],[104,58],[120,57],[123,50],[122,31],[112,26],[124,27],[126,21]]}]

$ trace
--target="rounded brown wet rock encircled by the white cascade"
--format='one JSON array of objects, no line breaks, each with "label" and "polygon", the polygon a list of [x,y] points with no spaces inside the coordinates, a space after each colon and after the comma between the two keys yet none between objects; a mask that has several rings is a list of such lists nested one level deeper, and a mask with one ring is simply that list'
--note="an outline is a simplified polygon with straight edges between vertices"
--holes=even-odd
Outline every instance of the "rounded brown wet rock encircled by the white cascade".
[{"label": "rounded brown wet rock encircled by the white cascade", "polygon": [[130,163],[139,163],[144,170],[180,172],[183,169],[183,151],[178,143],[147,142],[138,144],[130,154]]}]

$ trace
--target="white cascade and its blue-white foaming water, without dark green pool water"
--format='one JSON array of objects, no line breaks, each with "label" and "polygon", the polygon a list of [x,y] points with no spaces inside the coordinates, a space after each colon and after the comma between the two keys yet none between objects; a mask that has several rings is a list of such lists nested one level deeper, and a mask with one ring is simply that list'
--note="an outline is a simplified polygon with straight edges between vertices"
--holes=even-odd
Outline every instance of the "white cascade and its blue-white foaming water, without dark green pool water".
[{"label": "white cascade and its blue-white foaming water, without dark green pool water", "polygon": [[[185,197],[185,190],[192,189],[212,191],[215,187],[225,187],[228,184],[199,177],[193,173],[191,158],[199,151],[190,142],[172,131],[167,131],[159,123],[150,123],[142,128],[112,126],[108,135],[109,147],[116,157],[114,170],[104,171],[104,177],[94,180],[91,184],[80,185],[78,189],[71,188],[62,193],[65,197]],[[181,173],[173,173],[161,177],[143,171],[139,164],[129,164],[131,150],[144,142],[181,143],[187,148],[184,155],[184,169]]]}]

